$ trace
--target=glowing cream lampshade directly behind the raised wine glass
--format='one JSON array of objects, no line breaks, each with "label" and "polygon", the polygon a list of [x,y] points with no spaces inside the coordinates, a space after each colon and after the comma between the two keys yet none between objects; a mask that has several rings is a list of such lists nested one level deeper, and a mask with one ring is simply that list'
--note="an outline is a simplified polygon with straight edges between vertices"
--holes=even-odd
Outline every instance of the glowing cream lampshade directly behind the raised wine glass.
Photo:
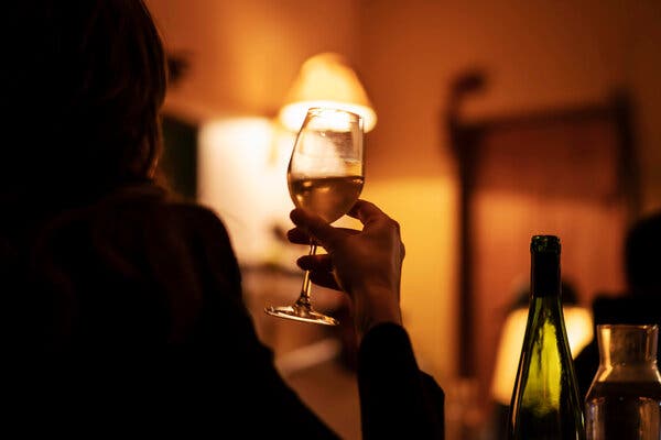
[{"label": "glowing cream lampshade directly behind the raised wine glass", "polygon": [[280,121],[289,130],[299,131],[312,107],[333,107],[358,113],[366,132],[377,123],[377,113],[358,75],[335,53],[318,54],[303,63],[280,110]]}]

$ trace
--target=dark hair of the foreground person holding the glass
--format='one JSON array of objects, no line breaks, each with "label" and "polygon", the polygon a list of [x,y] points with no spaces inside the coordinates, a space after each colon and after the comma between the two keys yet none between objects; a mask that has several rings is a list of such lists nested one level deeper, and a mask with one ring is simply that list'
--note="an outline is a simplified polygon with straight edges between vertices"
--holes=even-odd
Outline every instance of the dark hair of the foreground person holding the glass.
[{"label": "dark hair of the foreground person holding the glass", "polygon": [[19,142],[2,148],[0,193],[89,197],[151,179],[166,63],[143,1],[12,3],[1,7],[11,42],[2,100]]}]

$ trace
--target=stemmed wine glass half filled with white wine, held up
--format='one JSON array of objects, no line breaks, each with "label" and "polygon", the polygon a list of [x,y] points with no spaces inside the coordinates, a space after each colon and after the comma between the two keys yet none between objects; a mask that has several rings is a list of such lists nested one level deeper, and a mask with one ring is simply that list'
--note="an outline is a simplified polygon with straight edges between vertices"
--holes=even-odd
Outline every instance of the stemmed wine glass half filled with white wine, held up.
[{"label": "stemmed wine glass half filled with white wine, held up", "polygon": [[[333,223],[354,206],[364,185],[362,118],[335,108],[311,108],[296,135],[286,180],[297,208]],[[314,255],[316,244],[310,243]],[[337,326],[339,322],[312,307],[310,272],[303,277],[292,306],[267,307],[269,315],[303,322]]]}]

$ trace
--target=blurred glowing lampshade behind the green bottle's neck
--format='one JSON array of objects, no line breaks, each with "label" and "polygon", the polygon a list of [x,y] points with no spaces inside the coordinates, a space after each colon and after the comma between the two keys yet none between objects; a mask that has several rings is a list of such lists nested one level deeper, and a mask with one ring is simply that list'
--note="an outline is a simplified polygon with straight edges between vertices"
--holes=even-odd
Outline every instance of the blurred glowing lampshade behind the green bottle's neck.
[{"label": "blurred glowing lampshade behind the green bottle's neck", "polygon": [[[593,339],[592,314],[586,308],[568,306],[563,308],[563,314],[570,350],[572,356],[576,358]],[[509,405],[512,397],[527,321],[528,309],[517,309],[507,317],[502,327],[496,371],[491,382],[491,396],[502,405]]]}]

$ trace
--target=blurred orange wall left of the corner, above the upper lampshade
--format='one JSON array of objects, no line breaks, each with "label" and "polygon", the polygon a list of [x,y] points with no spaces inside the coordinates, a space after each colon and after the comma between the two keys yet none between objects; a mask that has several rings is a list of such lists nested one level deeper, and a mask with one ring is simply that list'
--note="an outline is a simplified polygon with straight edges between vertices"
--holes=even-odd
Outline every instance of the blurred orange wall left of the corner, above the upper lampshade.
[{"label": "blurred orange wall left of the corner, above the upper lampshade", "polygon": [[321,51],[355,61],[354,0],[147,0],[169,52],[191,67],[166,107],[192,120],[273,116],[301,64]]}]

